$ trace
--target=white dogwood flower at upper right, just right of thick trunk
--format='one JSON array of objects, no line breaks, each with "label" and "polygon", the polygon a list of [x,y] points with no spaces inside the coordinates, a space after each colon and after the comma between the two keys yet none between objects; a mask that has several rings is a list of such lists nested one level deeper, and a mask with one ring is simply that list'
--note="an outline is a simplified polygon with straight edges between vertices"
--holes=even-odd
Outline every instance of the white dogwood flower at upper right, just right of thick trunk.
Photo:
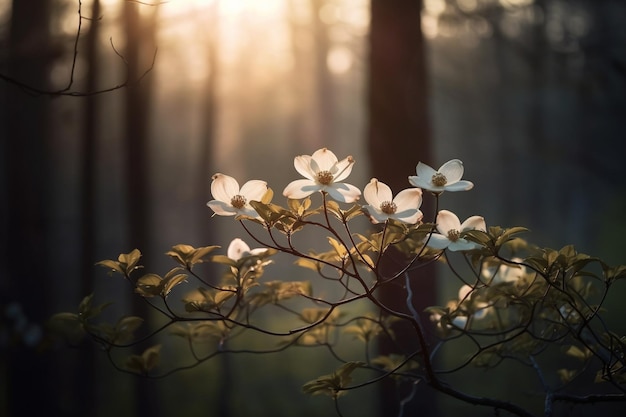
[{"label": "white dogwood flower at upper right, just right of thick trunk", "polygon": [[415,168],[417,176],[410,176],[409,183],[414,187],[423,188],[440,194],[444,191],[467,191],[474,187],[470,181],[461,180],[463,177],[463,162],[452,159],[443,164],[437,171],[420,162]]}]

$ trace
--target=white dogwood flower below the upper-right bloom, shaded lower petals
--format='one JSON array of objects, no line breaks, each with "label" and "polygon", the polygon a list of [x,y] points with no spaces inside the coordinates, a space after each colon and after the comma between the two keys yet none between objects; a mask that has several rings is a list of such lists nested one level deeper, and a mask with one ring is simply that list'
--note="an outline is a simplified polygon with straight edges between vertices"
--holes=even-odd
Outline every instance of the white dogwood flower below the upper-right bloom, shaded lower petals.
[{"label": "white dogwood flower below the upper-right bloom, shaded lower petals", "polygon": [[481,230],[485,232],[487,226],[481,216],[472,216],[461,224],[456,214],[448,210],[441,210],[437,214],[437,231],[428,240],[428,246],[433,249],[449,249],[453,252],[476,249],[477,243],[470,242],[461,237],[462,232],[468,230]]}]

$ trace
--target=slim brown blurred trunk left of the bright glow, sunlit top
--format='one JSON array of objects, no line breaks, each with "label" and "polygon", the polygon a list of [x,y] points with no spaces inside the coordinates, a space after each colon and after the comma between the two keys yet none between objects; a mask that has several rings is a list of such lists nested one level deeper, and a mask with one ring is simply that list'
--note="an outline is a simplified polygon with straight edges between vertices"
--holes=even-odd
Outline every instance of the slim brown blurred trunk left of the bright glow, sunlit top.
[{"label": "slim brown blurred trunk left of the bright glow, sunlit top", "polygon": [[[125,2],[123,6],[126,33],[127,79],[133,82],[151,66],[155,50],[155,25],[158,7],[140,2]],[[129,86],[125,92],[125,146],[128,251],[135,248],[142,253],[142,263],[150,264],[150,179],[149,179],[149,126],[152,102],[151,77]],[[134,314],[150,317],[147,303],[133,297]],[[138,346],[141,353],[149,346]],[[137,417],[160,415],[159,395],[154,381],[137,378],[135,412]]]}]

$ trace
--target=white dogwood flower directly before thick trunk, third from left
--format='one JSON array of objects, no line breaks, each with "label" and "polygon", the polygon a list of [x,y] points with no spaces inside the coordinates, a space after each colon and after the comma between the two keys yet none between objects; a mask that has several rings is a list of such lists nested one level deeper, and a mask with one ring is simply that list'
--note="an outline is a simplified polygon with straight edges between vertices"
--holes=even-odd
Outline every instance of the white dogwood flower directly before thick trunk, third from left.
[{"label": "white dogwood flower directly before thick trunk, third from left", "polygon": [[419,209],[422,205],[422,190],[419,188],[400,191],[396,198],[393,198],[391,188],[387,184],[372,178],[363,189],[363,196],[368,203],[363,208],[367,210],[372,223],[396,219],[415,224],[423,217]]}]

